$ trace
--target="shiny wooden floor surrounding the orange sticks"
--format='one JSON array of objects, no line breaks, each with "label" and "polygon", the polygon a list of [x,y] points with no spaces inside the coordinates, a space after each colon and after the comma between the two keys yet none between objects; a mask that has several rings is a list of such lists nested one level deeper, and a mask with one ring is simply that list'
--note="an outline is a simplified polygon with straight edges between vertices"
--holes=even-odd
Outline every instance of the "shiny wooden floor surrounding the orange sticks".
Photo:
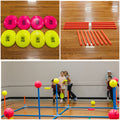
[{"label": "shiny wooden floor surrounding the orange sticks", "polygon": [[[119,59],[119,2],[62,1],[61,57],[62,59]],[[81,47],[76,30],[63,30],[65,22],[115,21],[117,30],[104,30],[112,45]],[[99,30],[99,29],[98,29]]]}]

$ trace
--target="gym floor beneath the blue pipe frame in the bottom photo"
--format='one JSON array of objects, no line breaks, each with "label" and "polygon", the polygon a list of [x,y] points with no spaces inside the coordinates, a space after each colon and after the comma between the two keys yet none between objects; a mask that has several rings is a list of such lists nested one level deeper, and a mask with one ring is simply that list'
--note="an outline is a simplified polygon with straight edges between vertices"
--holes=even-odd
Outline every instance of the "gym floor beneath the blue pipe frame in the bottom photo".
[{"label": "gym floor beneath the blue pipe frame in the bottom photo", "polygon": [[[37,106],[37,100],[29,100],[26,102],[27,106]],[[24,106],[24,102],[22,101],[9,101],[7,102],[7,107],[10,107],[12,109],[18,109]],[[55,106],[52,104],[52,101],[48,101],[48,100],[41,100],[41,106]],[[67,106],[67,103],[59,103],[59,106]],[[74,107],[89,107],[90,106],[90,102],[74,102],[72,101],[70,103],[70,106],[74,106]],[[111,102],[96,102],[96,107],[112,107],[112,103]],[[3,115],[3,110],[4,110],[4,106],[2,103],[2,109],[1,109],[1,113]],[[64,109],[59,109],[59,113],[62,112]],[[88,111],[87,109],[69,109],[66,112],[64,112],[62,115],[81,115],[81,116],[107,116],[108,115],[109,110],[108,109],[96,109],[95,111]],[[23,110],[20,110],[18,112],[15,112],[15,114],[29,114],[29,115],[38,115],[38,109],[37,108],[26,108]],[[41,108],[41,115],[55,115],[56,114],[56,110],[54,108]],[[42,117],[43,119],[52,119],[51,118],[46,118],[46,117]],[[5,117],[3,118],[5,119]],[[38,117],[14,117],[14,119],[38,119]],[[71,119],[71,118],[60,118],[60,119]],[[77,118],[72,118],[72,119],[77,119]],[[80,119],[80,118],[78,118]],[[83,119],[83,118],[81,118]],[[88,119],[88,118],[86,118]]]}]

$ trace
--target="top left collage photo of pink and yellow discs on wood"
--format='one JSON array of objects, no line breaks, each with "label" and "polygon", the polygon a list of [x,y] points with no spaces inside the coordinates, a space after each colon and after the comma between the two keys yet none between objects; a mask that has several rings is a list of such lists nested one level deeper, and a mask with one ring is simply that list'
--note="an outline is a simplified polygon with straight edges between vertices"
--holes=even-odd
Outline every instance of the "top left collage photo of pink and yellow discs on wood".
[{"label": "top left collage photo of pink and yellow discs on wood", "polygon": [[59,1],[1,2],[2,59],[59,59]]}]

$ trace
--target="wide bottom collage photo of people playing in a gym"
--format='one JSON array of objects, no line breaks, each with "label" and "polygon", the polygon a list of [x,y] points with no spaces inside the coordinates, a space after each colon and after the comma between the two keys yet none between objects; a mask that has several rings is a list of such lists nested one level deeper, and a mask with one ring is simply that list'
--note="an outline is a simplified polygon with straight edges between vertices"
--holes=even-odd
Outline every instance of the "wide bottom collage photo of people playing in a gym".
[{"label": "wide bottom collage photo of people playing in a gym", "polygon": [[107,119],[110,109],[119,107],[119,88],[113,93],[109,88],[112,77],[119,78],[118,61],[11,61],[2,62],[1,70],[2,91],[7,91],[3,119],[5,107],[14,110],[14,119]]}]

